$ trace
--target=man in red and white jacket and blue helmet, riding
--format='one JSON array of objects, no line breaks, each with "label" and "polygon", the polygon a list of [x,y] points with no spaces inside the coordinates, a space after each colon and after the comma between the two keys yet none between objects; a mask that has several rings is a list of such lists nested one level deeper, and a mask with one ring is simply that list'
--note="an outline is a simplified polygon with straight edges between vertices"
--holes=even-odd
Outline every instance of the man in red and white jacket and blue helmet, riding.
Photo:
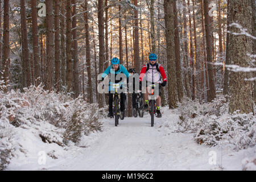
[{"label": "man in red and white jacket and blue helmet, riding", "polygon": [[[146,76],[146,85],[148,85],[148,82],[154,82],[155,84],[159,84],[159,96],[156,97],[156,117],[160,118],[162,117],[162,114],[160,112],[160,105],[161,105],[161,97],[160,97],[160,86],[166,86],[167,77],[166,73],[164,72],[164,68],[161,64],[156,63],[158,56],[156,56],[155,53],[151,53],[148,56],[148,59],[150,60],[150,63],[144,64],[141,69],[141,73],[139,74],[139,87],[140,90],[142,89],[142,80],[143,77]],[[161,79],[161,76],[163,78],[163,81]],[[147,87],[148,88],[148,87]],[[144,99],[146,102],[145,110],[148,110],[148,89],[146,89],[146,94],[144,94]]]}]

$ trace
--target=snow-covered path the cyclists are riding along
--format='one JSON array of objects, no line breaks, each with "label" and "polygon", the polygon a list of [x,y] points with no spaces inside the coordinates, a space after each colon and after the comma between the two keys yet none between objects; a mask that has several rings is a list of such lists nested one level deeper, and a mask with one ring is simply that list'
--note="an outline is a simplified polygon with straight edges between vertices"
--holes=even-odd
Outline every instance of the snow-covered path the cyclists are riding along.
[{"label": "snow-covered path the cyclists are riding along", "polygon": [[[163,108],[162,113],[154,127],[149,114],[125,118],[118,127],[114,119],[102,119],[104,130],[82,138],[85,147],[43,143],[40,137],[16,128],[17,142],[28,151],[26,155],[19,152],[7,170],[241,170],[244,158],[256,156],[256,147],[235,152],[225,146],[200,146],[193,134],[173,132],[179,119],[175,111]],[[46,155],[44,164],[44,154],[57,159]],[[214,154],[216,164],[211,165]]]}]

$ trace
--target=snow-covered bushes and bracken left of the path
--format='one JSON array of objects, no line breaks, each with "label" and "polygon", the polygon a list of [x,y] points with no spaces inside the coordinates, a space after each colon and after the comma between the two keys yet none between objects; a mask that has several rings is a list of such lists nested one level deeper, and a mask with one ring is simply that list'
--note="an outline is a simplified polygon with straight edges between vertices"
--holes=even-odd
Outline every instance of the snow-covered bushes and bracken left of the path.
[{"label": "snow-covered bushes and bracken left of the path", "polygon": [[[11,158],[30,152],[31,138],[60,147],[70,142],[79,146],[83,135],[101,130],[98,119],[105,115],[105,108],[98,109],[97,104],[88,104],[82,97],[73,99],[67,94],[48,92],[42,85],[24,88],[24,92],[5,90],[1,81],[0,170]],[[48,155],[53,156],[52,152]]]}]

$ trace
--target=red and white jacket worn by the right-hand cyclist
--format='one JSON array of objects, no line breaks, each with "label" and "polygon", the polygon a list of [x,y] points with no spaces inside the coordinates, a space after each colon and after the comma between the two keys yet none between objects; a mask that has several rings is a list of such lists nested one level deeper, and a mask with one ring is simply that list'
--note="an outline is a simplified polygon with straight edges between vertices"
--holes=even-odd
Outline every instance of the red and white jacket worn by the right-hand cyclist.
[{"label": "red and white jacket worn by the right-hand cyclist", "polygon": [[146,80],[155,83],[162,83],[161,76],[163,77],[163,81],[167,81],[166,72],[164,72],[164,68],[162,64],[158,64],[159,72],[156,69],[156,64],[149,64],[149,69],[147,71],[147,64],[144,64],[141,69],[141,73],[139,74],[139,81],[143,80],[143,77],[146,75]]}]

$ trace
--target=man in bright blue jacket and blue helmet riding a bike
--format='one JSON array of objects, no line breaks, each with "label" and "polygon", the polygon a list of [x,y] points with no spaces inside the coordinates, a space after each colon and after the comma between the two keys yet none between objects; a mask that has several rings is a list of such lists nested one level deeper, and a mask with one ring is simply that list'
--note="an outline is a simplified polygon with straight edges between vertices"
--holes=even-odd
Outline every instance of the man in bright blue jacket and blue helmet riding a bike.
[{"label": "man in bright blue jacket and blue helmet riding a bike", "polygon": [[[111,65],[104,71],[104,73],[102,74],[102,81],[104,80],[104,78],[109,75],[109,77],[111,78],[112,76],[114,76],[114,78],[116,78],[116,76],[120,73],[125,74],[126,78],[128,78],[130,76],[129,72],[126,70],[125,67],[123,67],[122,64],[120,64],[120,61],[117,57],[114,57],[111,60]],[[111,76],[111,74],[113,74]],[[113,92],[111,93],[113,89],[113,84],[119,84],[120,88],[122,89],[122,86],[125,86],[123,80],[114,80],[115,82],[112,82],[112,80],[109,81],[109,113],[108,113],[108,117],[113,118]],[[121,93],[121,115],[122,117],[125,115],[125,100],[126,100],[126,95],[125,93]],[[122,118],[121,117],[121,118]]]}]

